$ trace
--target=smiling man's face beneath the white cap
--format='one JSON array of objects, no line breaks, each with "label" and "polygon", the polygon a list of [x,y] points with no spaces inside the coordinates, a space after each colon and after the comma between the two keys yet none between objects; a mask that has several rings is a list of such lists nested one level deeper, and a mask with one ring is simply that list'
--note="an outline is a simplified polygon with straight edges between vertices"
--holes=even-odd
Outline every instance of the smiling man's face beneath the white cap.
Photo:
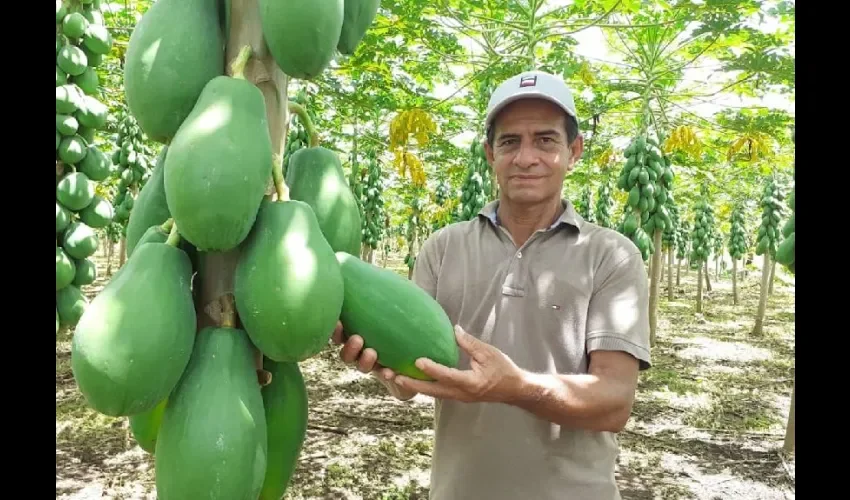
[{"label": "smiling man's face beneath the white cap", "polygon": [[502,196],[520,204],[560,199],[584,145],[581,136],[567,144],[565,120],[561,108],[542,99],[520,99],[499,113],[493,146],[485,150]]}]

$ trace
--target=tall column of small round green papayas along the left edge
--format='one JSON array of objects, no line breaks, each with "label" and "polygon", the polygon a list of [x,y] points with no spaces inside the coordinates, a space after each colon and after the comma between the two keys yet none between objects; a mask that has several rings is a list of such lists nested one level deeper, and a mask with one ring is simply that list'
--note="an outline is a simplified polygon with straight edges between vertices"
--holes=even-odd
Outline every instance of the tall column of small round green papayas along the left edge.
[{"label": "tall column of small round green papayas along the left edge", "polygon": [[97,194],[109,159],[95,144],[108,108],[98,99],[97,66],[112,48],[99,2],[56,0],[56,332],[87,307],[81,288],[97,277],[89,258],[112,205]]}]

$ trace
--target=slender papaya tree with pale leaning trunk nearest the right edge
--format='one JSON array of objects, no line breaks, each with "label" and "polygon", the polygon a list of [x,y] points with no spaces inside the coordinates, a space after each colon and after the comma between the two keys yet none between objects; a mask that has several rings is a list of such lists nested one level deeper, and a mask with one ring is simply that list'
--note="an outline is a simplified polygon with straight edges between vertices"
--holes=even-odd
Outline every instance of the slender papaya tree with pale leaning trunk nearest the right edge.
[{"label": "slender papaya tree with pale leaning trunk nearest the right edge", "polygon": [[761,224],[756,235],[756,255],[762,257],[761,290],[756,320],[751,334],[760,336],[764,329],[764,315],[767,310],[767,297],[770,288],[770,271],[781,227],[779,222],[784,212],[784,194],[774,172],[765,179],[764,190],[759,202],[762,209]]}]

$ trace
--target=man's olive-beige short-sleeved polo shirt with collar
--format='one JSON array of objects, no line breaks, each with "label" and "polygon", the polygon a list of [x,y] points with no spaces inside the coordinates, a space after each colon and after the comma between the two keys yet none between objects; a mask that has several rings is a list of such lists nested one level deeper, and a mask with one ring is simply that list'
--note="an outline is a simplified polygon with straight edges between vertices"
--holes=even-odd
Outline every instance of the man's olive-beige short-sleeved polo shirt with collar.
[{"label": "man's olive-beige short-sleeved polo shirt with collar", "polygon": [[[453,324],[536,373],[587,373],[588,353],[625,351],[650,364],[648,284],[620,233],[561,216],[517,248],[498,201],[422,245],[417,285]],[[469,368],[461,351],[460,368]],[[436,402],[434,500],[618,500],[616,437],[562,428],[501,403]]]}]

